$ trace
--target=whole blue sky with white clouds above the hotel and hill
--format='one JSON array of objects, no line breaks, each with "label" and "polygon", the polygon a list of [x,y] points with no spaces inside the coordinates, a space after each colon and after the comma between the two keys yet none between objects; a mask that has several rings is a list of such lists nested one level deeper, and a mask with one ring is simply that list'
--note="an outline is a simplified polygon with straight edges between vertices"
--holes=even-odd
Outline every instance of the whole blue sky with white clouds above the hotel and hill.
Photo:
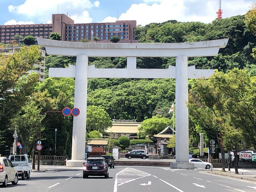
[{"label": "whole blue sky with white clouds above the hotel and hill", "polygon": [[[222,0],[222,17],[244,14],[252,3],[251,0]],[[143,26],[166,20],[210,23],[218,10],[218,0],[0,0],[0,4],[0,25],[51,23],[58,5],[59,13],[68,12],[75,23],[118,19],[137,20],[137,25]]]}]

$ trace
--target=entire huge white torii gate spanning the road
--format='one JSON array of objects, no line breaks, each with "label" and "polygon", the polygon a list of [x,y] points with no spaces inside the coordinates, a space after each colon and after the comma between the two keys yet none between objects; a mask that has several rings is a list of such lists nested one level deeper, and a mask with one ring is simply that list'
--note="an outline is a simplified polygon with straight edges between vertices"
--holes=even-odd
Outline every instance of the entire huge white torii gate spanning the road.
[{"label": "entire huge white torii gate spanning the road", "polygon": [[[80,167],[84,162],[87,78],[175,78],[176,100],[176,163],[171,168],[194,169],[188,163],[188,79],[208,78],[214,69],[188,67],[188,57],[217,55],[228,39],[194,43],[80,43],[56,41],[37,37],[47,54],[76,56],[76,66],[50,68],[50,77],[75,77],[75,104],[80,115],[73,120],[72,156],[67,167]],[[88,66],[88,57],[127,57],[126,69],[102,69]],[[168,69],[137,69],[136,57],[176,57],[176,67]]]}]

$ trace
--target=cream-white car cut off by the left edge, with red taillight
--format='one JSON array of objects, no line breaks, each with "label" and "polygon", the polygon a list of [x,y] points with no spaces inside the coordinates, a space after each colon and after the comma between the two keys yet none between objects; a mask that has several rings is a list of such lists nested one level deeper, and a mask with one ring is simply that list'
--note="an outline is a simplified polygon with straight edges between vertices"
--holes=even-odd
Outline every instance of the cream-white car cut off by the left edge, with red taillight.
[{"label": "cream-white car cut off by the left edge, with red taillight", "polygon": [[10,159],[0,157],[0,183],[3,187],[6,187],[9,182],[16,185],[18,183],[18,173]]}]

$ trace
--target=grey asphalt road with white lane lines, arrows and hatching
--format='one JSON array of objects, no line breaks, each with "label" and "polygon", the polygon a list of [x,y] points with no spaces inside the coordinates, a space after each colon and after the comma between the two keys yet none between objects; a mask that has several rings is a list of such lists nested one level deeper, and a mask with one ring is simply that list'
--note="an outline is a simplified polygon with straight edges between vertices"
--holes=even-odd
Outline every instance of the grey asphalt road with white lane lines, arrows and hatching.
[{"label": "grey asphalt road with white lane lines, arrows and hatching", "polygon": [[115,166],[109,178],[83,179],[82,168],[41,166],[47,172],[32,173],[29,180],[8,184],[4,192],[250,192],[256,182],[206,173],[205,169],[175,170],[160,167]]}]

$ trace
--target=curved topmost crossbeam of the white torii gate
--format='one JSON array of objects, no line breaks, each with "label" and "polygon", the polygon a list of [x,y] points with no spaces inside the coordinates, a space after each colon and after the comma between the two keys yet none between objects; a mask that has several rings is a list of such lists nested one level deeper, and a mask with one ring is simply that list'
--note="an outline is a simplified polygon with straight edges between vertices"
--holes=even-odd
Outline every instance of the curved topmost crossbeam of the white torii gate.
[{"label": "curved topmost crossbeam of the white torii gate", "polygon": [[193,43],[80,43],[37,37],[47,54],[88,57],[206,57],[215,56],[226,47],[228,39]]}]

